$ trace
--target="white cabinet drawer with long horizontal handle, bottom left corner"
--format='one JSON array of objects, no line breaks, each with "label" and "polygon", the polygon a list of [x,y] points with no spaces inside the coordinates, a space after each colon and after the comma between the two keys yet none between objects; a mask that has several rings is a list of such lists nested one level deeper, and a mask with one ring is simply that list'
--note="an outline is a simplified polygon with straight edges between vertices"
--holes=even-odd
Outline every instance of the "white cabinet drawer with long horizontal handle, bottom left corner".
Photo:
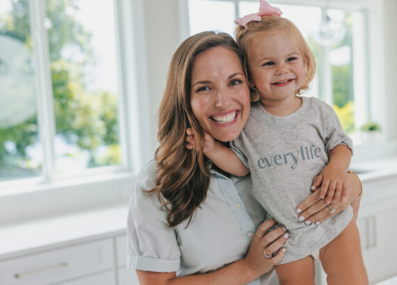
[{"label": "white cabinet drawer with long horizontal handle, bottom left corner", "polygon": [[0,284],[52,284],[113,268],[111,239],[43,251],[0,263]]}]

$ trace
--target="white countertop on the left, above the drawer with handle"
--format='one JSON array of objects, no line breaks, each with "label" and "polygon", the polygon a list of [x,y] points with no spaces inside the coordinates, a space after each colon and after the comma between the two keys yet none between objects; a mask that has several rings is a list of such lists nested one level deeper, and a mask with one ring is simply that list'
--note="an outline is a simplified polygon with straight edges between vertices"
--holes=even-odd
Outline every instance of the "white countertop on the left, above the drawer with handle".
[{"label": "white countertop on the left, above the drawer with handle", "polygon": [[0,260],[124,234],[127,204],[0,227]]}]

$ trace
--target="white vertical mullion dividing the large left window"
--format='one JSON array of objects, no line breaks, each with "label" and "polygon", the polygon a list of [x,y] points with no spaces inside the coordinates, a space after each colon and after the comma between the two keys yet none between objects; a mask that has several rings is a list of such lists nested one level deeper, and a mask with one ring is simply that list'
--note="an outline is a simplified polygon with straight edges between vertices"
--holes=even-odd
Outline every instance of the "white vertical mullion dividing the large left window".
[{"label": "white vertical mullion dividing the large left window", "polygon": [[38,129],[42,142],[42,174],[45,181],[52,180],[55,169],[55,115],[52,94],[49,47],[45,29],[45,0],[29,1],[33,40],[33,56],[36,65],[36,98],[38,105]]}]

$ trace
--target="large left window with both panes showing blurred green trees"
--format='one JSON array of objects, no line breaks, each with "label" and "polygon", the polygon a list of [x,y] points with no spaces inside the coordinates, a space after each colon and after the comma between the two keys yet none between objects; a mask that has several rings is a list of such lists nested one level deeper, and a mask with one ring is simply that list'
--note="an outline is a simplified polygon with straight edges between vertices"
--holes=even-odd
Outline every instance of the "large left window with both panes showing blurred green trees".
[{"label": "large left window with both panes showing blurred green trees", "polygon": [[130,166],[122,159],[115,7],[0,2],[0,181]]}]

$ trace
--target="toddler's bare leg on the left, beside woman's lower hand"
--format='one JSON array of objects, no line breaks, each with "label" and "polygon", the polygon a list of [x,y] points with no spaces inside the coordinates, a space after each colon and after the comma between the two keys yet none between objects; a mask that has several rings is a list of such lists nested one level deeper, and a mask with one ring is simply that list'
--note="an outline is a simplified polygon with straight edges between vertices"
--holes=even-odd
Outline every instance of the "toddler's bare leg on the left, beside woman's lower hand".
[{"label": "toddler's bare leg on the left, beside woman's lower hand", "polygon": [[311,256],[275,268],[280,285],[314,285],[314,260]]}]

